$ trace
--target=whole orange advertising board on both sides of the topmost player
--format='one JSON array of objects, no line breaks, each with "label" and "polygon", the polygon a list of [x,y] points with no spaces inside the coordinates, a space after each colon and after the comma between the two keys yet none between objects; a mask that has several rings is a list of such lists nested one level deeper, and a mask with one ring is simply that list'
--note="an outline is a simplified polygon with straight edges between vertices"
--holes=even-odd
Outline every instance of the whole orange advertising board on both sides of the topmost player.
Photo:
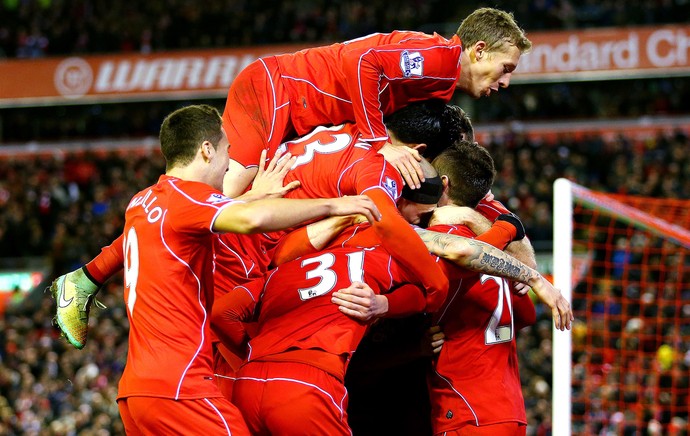
[{"label": "whole orange advertising board on both sides of the topmost player", "polygon": [[[690,25],[533,32],[512,83],[690,75]],[[0,60],[0,107],[222,98],[260,56],[304,46]]]}]

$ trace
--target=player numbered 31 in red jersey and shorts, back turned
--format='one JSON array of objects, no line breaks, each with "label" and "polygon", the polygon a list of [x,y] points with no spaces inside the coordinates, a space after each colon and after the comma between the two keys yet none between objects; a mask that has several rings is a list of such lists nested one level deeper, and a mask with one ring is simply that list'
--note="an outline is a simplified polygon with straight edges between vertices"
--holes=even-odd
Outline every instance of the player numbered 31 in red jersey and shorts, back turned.
[{"label": "player numbered 31 in red jersey and shorts, back turned", "polygon": [[[403,286],[393,293],[416,293],[421,305],[410,310],[424,308],[421,290],[410,289],[420,281],[381,246],[300,257],[215,302],[211,322],[217,335],[237,353],[249,350],[233,403],[252,434],[351,434],[343,380],[367,327],[341,313],[330,295],[356,282],[376,293]],[[402,301],[410,306],[410,300]],[[245,348],[243,321],[254,319],[257,332]]]}]

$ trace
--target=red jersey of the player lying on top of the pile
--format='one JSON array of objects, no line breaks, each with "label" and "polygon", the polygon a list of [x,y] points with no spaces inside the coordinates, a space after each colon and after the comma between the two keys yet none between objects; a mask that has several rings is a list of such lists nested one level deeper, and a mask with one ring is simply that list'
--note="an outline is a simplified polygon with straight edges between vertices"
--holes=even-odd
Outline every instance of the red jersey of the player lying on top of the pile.
[{"label": "red jersey of the player lying on top of the pile", "polygon": [[[430,98],[450,101],[460,76],[457,36],[395,31],[278,55],[298,135],[354,121],[367,142],[388,138],[383,115]],[[377,147],[378,148],[378,147]]]}]

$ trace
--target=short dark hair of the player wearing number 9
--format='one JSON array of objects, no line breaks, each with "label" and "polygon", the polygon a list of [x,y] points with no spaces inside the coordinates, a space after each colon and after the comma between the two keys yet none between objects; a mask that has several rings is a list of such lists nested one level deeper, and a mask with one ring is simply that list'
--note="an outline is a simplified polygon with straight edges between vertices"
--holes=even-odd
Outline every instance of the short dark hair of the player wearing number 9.
[{"label": "short dark hair of the player wearing number 9", "polygon": [[166,170],[189,165],[204,141],[217,147],[223,137],[221,127],[220,113],[207,104],[185,106],[165,117],[159,139]]}]

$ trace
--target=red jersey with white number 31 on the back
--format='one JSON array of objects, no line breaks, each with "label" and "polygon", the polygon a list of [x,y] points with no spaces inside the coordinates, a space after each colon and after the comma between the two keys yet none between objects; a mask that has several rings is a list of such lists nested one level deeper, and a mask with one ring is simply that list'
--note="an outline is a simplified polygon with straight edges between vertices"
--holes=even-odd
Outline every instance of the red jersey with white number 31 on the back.
[{"label": "red jersey with white number 31 on the back", "polygon": [[418,283],[380,247],[336,248],[288,262],[265,280],[246,286],[254,306],[260,301],[258,333],[249,341],[247,360],[289,349],[319,349],[349,359],[366,332],[331,302],[331,293],[352,282],[386,293]]}]

